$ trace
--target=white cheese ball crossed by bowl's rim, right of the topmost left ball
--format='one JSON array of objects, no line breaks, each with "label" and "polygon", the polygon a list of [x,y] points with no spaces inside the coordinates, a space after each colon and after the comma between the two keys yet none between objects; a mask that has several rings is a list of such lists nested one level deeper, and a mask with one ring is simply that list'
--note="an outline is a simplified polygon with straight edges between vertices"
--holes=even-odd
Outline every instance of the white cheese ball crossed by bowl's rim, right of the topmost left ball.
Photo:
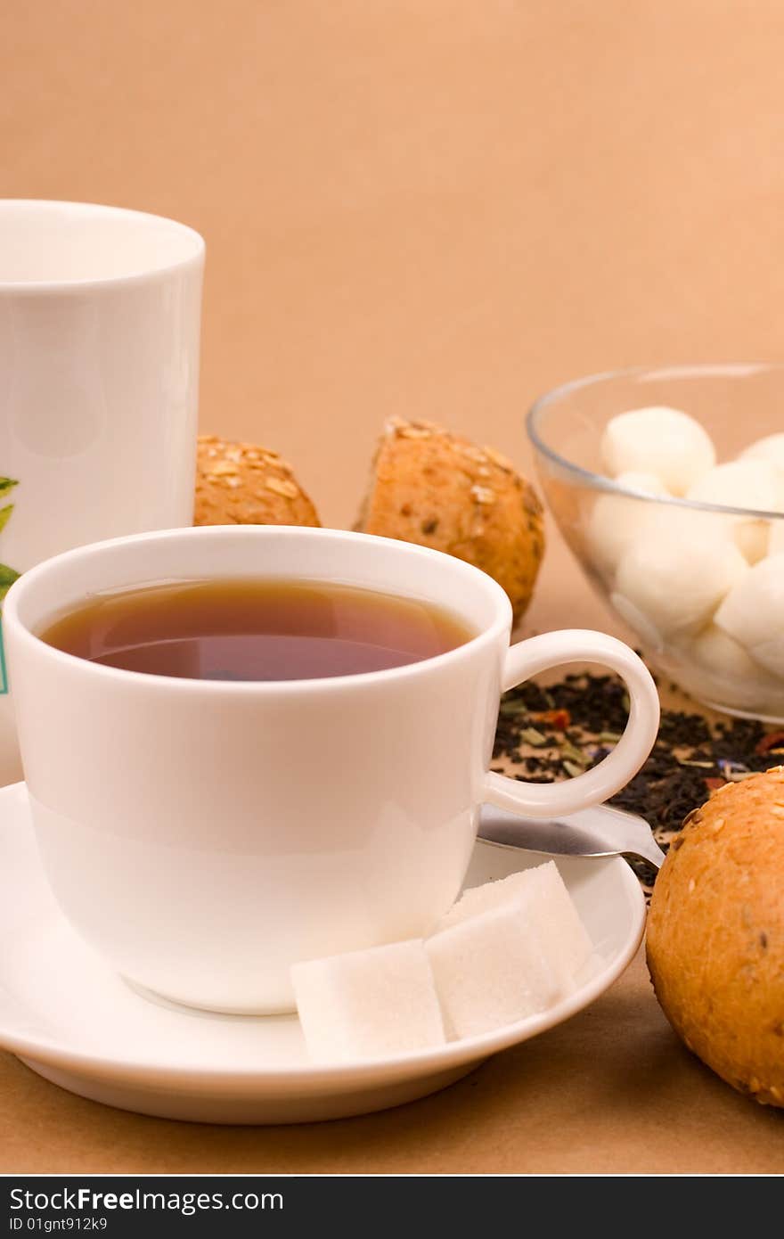
[{"label": "white cheese ball crossed by bowl's rim, right of the topmost left ball", "polygon": [[[739,460],[717,465],[686,492],[687,499],[758,512],[784,510],[784,476],[769,461]],[[749,564],[768,553],[769,525],[753,517],[727,517],[732,536]]]}]

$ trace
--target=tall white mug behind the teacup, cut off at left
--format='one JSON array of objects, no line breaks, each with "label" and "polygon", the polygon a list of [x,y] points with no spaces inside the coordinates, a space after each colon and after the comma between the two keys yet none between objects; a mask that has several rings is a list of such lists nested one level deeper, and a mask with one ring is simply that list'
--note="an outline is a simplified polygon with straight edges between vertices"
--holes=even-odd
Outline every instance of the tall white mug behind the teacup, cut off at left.
[{"label": "tall white mug behind the teacup, cut off at left", "polygon": [[0,601],[58,551],[192,523],[203,264],[171,219],[0,199]]}]

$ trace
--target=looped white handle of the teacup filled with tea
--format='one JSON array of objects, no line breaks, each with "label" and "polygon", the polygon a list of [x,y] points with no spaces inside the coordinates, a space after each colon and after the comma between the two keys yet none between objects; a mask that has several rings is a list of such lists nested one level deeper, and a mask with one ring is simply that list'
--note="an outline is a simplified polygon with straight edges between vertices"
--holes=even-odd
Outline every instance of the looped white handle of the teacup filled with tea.
[{"label": "looped white handle of the teacup filled with tea", "polygon": [[601,804],[621,790],[648,757],[659,730],[659,694],[653,676],[633,649],[602,632],[565,628],[512,646],[502,689],[514,688],[564,663],[599,663],[617,672],[629,693],[629,720],[613,751],[591,771],[562,783],[525,783],[486,774],[484,799],[526,818],[554,818]]}]

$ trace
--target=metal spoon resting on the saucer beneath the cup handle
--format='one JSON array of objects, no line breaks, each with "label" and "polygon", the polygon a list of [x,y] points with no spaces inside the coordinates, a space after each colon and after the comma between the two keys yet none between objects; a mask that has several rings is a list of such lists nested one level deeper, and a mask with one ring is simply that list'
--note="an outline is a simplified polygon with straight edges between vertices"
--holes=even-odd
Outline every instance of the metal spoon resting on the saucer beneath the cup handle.
[{"label": "metal spoon resting on the saucer beneath the cup handle", "polygon": [[487,843],[556,856],[638,856],[655,869],[664,861],[644,818],[606,804],[547,821],[518,818],[494,804],[483,804],[478,834]]}]

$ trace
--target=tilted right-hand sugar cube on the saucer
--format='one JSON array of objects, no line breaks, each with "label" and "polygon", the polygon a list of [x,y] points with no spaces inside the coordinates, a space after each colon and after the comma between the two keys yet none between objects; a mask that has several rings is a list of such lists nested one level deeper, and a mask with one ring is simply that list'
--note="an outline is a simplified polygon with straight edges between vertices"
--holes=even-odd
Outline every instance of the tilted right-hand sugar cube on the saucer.
[{"label": "tilted right-hand sugar cube on the saucer", "polygon": [[552,1006],[593,954],[552,861],[466,891],[425,949],[451,1037]]}]

